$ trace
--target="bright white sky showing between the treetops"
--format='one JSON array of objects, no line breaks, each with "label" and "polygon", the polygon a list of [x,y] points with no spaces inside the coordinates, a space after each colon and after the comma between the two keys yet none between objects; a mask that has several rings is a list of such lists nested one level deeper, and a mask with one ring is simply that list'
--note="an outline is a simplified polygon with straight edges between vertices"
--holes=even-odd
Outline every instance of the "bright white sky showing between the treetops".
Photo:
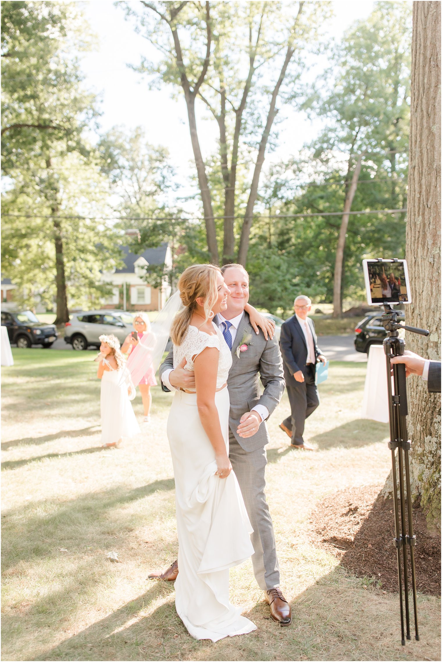
[{"label": "bright white sky showing between the treetops", "polygon": [[[138,5],[139,1],[133,3]],[[129,130],[142,126],[148,142],[168,148],[179,181],[185,185],[193,156],[185,101],[183,97],[173,99],[170,87],[150,90],[146,77],[128,68],[128,64],[139,64],[142,56],[155,57],[154,47],[136,34],[133,22],[126,21],[124,10],[116,7],[112,0],[82,0],[79,5],[98,37],[96,50],[82,57],[81,68],[86,77],[85,85],[102,99],[101,130],[116,125]],[[331,36],[339,38],[354,21],[367,17],[375,3],[333,0],[332,5],[334,17],[327,28]],[[267,154],[267,166],[296,154],[320,130],[318,121],[312,122],[294,109],[285,108],[281,115],[279,147]],[[199,134],[204,157],[216,146],[214,120],[199,120]]]}]

